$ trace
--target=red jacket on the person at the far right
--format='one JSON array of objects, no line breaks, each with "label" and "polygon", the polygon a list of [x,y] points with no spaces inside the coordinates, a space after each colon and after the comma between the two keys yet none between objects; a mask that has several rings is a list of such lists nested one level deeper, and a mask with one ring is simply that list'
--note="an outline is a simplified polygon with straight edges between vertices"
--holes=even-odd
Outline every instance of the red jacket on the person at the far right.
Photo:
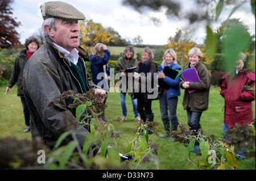
[{"label": "red jacket on the person at the far right", "polygon": [[222,77],[220,94],[225,99],[224,123],[228,127],[234,127],[237,123],[243,126],[253,120],[253,90],[242,90],[243,86],[253,87],[255,74],[242,72],[236,75],[227,73]]}]

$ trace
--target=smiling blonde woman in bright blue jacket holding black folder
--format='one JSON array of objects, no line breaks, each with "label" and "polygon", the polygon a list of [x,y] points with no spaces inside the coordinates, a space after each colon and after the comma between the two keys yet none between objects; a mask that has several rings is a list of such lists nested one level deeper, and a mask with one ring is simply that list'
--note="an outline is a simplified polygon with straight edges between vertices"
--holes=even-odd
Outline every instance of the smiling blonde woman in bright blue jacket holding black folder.
[{"label": "smiling blonde woman in bright blue jacket holding black folder", "polygon": [[[180,77],[181,75],[178,75],[175,79],[172,79],[168,76],[166,76],[163,71],[164,68],[168,66],[171,69],[174,70],[181,70],[181,67],[177,64],[177,55],[173,49],[168,49],[164,53],[163,56],[163,62],[159,66],[159,74],[158,79],[163,79],[163,82],[167,84],[168,88],[166,86],[159,87],[159,102],[160,102],[160,111],[161,111],[161,117],[164,124],[164,129],[166,133],[163,135],[160,135],[161,138],[169,137],[171,131],[177,131],[177,126],[179,125],[179,120],[177,118],[176,109],[177,109],[177,102],[178,102],[178,96],[180,96]],[[170,112],[170,116],[168,114],[168,109]],[[171,120],[171,131],[170,131],[170,120]],[[168,141],[174,141],[174,139],[171,137],[168,139]]]}]

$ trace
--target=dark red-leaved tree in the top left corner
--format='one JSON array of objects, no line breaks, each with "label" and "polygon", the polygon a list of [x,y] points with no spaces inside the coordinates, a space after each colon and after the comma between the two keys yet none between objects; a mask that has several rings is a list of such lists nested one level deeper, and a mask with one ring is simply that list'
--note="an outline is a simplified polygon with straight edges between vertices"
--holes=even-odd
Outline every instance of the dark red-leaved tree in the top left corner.
[{"label": "dark red-leaved tree in the top left corner", "polygon": [[20,26],[20,22],[16,22],[16,18],[12,18],[13,9],[10,4],[13,0],[0,0],[0,47],[9,48],[12,45],[20,44],[19,33],[15,31],[15,27]]}]

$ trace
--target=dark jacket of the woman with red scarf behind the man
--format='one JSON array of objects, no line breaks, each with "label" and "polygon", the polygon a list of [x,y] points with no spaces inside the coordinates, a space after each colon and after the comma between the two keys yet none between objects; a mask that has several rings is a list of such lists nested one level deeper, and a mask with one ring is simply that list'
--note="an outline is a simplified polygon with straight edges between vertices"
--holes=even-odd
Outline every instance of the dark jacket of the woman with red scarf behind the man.
[{"label": "dark jacket of the woman with red scarf behind the man", "polygon": [[11,72],[11,77],[8,85],[8,87],[12,88],[15,85],[15,83],[17,83],[17,87],[18,87],[17,95],[22,97],[24,96],[23,86],[22,86],[23,69],[24,69],[24,66],[27,64],[27,61],[28,60],[26,56],[26,49],[24,49],[16,57],[16,60],[13,66],[13,71]]}]

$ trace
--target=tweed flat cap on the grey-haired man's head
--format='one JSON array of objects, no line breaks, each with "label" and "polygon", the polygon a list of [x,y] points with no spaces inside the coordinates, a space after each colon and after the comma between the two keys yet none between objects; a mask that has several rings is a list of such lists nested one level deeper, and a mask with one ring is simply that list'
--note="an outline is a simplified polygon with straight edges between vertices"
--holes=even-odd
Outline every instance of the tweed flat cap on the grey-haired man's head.
[{"label": "tweed flat cap on the grey-haired man's head", "polygon": [[61,1],[51,1],[43,3],[40,6],[43,19],[48,18],[63,18],[63,19],[77,19],[84,20],[85,16],[72,5]]}]

